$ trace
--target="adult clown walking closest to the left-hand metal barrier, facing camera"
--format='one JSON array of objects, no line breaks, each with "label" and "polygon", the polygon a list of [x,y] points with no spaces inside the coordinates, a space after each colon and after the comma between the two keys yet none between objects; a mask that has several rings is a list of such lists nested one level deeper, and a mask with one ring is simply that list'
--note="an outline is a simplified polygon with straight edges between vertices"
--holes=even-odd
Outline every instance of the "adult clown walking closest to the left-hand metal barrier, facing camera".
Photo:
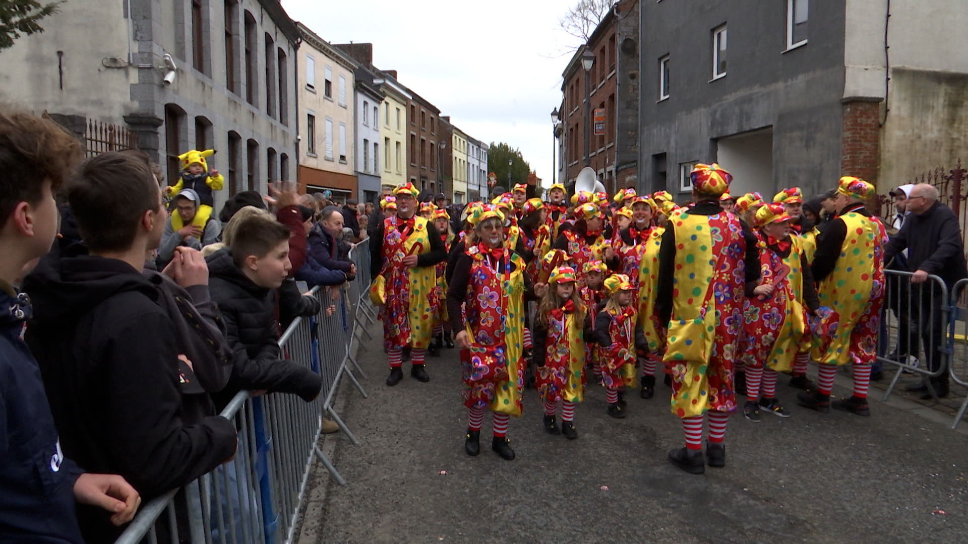
[{"label": "adult clown walking closest to the left-hand metal barrier, facing camera", "polygon": [[[390,360],[387,385],[403,379],[403,348],[410,348],[410,376],[429,381],[424,369],[433,330],[435,267],[447,258],[437,227],[416,215],[418,191],[410,183],[393,190],[397,214],[371,236],[371,290],[382,290],[383,347]],[[382,288],[380,288],[382,286]]]}]

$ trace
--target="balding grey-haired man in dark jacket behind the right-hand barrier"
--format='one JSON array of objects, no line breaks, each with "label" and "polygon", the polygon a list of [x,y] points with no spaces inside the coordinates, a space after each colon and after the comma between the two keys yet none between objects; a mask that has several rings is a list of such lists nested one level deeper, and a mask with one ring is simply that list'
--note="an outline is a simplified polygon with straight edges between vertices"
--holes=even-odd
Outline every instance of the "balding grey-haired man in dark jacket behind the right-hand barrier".
[{"label": "balding grey-haired man in dark jacket behind the right-hand barrier", "polygon": [[[958,280],[968,277],[965,264],[964,242],[958,218],[951,208],[938,201],[938,190],[926,183],[911,188],[907,198],[910,215],[884,248],[884,261],[908,250],[908,270],[913,270],[911,283],[923,284],[929,275],[944,280],[950,289]],[[919,295],[920,292],[920,295]],[[927,358],[928,369],[937,371],[942,361],[945,323],[942,319],[944,293],[938,287],[924,286],[911,289],[911,320],[921,331],[921,339]],[[917,347],[912,346],[911,351]],[[914,354],[914,353],[912,353]],[[948,395],[948,373],[930,379],[930,385],[938,397]],[[924,391],[923,399],[931,399],[927,382],[909,387],[911,391]]]}]

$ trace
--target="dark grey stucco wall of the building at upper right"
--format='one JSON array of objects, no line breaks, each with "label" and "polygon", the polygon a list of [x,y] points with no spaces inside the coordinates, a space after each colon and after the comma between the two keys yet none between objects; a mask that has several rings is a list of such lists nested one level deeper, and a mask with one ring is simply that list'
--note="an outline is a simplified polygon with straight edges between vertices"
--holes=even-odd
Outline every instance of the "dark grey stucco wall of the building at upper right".
[{"label": "dark grey stucco wall of the building at upper right", "polygon": [[[818,193],[840,174],[843,0],[811,2],[808,43],[786,49],[786,2],[641,4],[642,191],[679,194],[679,165],[716,160],[717,138],[772,128],[773,187]],[[726,76],[712,78],[712,29],[726,24]],[[658,60],[670,57],[659,101]],[[665,153],[660,187],[652,156]],[[770,195],[771,196],[771,195]]]}]

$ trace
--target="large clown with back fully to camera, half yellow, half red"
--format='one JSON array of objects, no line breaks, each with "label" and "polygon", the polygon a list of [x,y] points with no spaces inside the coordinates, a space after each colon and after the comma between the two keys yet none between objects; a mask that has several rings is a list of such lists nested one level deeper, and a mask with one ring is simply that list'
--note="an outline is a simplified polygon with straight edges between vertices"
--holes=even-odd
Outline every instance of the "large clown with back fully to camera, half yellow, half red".
[{"label": "large clown with back fully to camera, half yellow, half red", "polygon": [[706,470],[704,414],[710,466],[726,465],[723,438],[736,410],[733,362],[742,304],[747,283],[759,279],[756,239],[719,205],[732,177],[717,165],[696,165],[694,204],[669,218],[659,248],[656,307],[660,322],[669,323],[663,362],[672,371],[672,412],[685,433],[685,447],[670,451],[669,461],[693,474]]}]

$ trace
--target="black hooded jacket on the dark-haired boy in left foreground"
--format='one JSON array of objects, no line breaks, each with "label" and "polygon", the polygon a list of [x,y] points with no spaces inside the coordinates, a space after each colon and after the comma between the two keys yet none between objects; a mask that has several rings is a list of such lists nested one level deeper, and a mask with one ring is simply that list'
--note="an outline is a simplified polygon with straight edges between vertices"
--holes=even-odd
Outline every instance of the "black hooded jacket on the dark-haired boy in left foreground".
[{"label": "black hooded jacket on the dark-haired boy in left foreground", "polygon": [[[175,327],[139,270],[75,244],[42,259],[23,288],[35,316],[27,344],[64,454],[80,468],[121,474],[151,499],[232,456],[230,421],[184,422]],[[113,539],[108,516],[78,507],[88,541]]]}]

